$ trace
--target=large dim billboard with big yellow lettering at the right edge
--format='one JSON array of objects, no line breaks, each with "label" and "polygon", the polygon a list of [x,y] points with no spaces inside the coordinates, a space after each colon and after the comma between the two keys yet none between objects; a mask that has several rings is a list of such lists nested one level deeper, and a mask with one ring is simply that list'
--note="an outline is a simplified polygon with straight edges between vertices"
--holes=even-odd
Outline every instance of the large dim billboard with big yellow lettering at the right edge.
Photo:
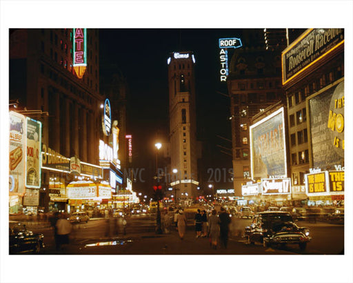
[{"label": "large dim billboard with big yellow lettering at the right edge", "polygon": [[312,167],[344,164],[344,81],[308,99]]}]

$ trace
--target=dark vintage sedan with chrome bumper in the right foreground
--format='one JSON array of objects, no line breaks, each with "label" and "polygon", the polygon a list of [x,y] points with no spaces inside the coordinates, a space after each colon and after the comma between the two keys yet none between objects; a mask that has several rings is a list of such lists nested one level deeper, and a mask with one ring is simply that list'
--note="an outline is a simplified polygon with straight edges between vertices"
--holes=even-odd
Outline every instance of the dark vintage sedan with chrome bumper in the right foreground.
[{"label": "dark vintage sedan with chrome bumper in the right foreground", "polygon": [[309,228],[297,226],[290,213],[280,211],[257,213],[252,224],[245,227],[245,238],[248,244],[259,242],[265,247],[299,244],[301,250],[312,240]]}]

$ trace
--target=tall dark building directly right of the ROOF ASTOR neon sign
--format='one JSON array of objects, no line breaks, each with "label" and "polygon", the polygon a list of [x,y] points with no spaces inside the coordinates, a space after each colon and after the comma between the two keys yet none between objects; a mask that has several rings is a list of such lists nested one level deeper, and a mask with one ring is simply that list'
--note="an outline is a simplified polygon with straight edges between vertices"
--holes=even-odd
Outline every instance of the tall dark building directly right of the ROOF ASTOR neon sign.
[{"label": "tall dark building directly right of the ROOF ASTOR neon sign", "polygon": [[[283,33],[285,36],[285,33]],[[243,47],[234,51],[227,79],[232,117],[234,193],[251,179],[251,118],[284,99],[281,84],[281,50],[266,49],[263,30],[245,30]]]}]

